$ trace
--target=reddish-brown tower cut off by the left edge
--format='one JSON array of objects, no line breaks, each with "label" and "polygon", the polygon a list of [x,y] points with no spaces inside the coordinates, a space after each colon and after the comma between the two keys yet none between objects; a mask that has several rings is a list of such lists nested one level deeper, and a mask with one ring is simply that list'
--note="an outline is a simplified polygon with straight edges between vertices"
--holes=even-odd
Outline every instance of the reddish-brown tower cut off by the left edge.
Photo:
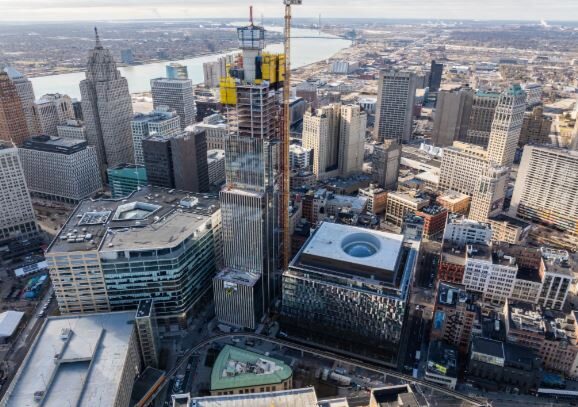
[{"label": "reddish-brown tower cut off by the left edge", "polygon": [[30,136],[26,114],[16,85],[0,70],[0,141],[17,146]]}]

